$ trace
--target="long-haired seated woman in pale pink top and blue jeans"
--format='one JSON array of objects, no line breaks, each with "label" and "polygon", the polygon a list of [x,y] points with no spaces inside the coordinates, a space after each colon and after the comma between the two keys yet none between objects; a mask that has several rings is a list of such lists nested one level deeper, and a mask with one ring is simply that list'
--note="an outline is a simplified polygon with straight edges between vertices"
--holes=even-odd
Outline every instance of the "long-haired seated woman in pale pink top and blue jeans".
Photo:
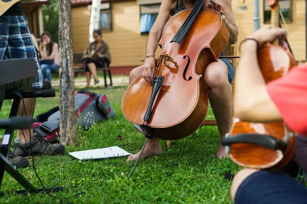
[{"label": "long-haired seated woman in pale pink top and blue jeans", "polygon": [[59,70],[58,44],[52,41],[52,37],[48,31],[43,32],[40,39],[39,53],[42,77],[43,80],[51,82],[51,72]]}]

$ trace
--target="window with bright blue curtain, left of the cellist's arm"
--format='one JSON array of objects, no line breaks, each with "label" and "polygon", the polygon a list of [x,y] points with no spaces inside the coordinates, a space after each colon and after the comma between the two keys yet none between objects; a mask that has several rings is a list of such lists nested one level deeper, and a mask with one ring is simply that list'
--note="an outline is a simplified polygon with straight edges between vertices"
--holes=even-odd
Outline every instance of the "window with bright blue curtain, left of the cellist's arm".
[{"label": "window with bright blue curtain, left of the cellist's arm", "polygon": [[147,4],[140,6],[140,33],[149,33],[153,23],[155,22],[161,4]]}]

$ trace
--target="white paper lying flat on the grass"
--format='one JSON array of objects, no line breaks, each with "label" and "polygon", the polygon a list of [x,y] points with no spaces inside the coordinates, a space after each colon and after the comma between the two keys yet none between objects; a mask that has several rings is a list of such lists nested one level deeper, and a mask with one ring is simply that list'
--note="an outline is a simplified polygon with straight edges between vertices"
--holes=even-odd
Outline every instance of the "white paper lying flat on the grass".
[{"label": "white paper lying flat on the grass", "polygon": [[119,148],[118,146],[84,151],[74,151],[69,152],[69,154],[79,160],[107,159],[131,155],[129,152],[123,150],[122,148]]}]

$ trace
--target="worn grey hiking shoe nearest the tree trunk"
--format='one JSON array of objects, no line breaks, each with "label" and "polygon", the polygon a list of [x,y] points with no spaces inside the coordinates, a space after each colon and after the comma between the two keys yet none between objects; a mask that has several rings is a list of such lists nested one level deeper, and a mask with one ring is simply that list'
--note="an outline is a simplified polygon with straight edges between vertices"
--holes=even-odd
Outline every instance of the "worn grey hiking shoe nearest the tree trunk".
[{"label": "worn grey hiking shoe nearest the tree trunk", "polygon": [[60,143],[50,144],[46,139],[36,133],[31,138],[31,144],[30,141],[23,143],[18,138],[14,140],[14,143],[14,154],[21,157],[30,156],[31,148],[33,155],[56,155],[65,149],[64,145]]}]

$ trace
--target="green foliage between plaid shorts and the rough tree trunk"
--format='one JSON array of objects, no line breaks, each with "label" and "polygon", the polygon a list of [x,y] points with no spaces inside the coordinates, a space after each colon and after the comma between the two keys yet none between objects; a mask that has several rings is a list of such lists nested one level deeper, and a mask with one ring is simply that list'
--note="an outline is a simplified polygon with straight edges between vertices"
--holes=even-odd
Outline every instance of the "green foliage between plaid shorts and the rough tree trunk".
[{"label": "green foliage between plaid shorts and the rough tree trunk", "polygon": [[50,5],[42,5],[43,29],[49,31],[54,42],[58,42],[59,10],[58,0],[49,0]]}]

